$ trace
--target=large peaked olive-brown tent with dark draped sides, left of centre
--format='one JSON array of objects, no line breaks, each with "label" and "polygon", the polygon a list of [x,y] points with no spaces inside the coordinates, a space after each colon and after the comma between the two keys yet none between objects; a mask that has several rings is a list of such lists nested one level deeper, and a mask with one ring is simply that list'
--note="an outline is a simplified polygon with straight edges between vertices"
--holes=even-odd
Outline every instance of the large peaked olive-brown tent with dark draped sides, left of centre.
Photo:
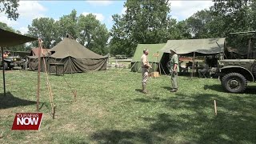
[{"label": "large peaked olive-brown tent with dark draped sides, left of centre", "polygon": [[[50,53],[49,57],[45,57],[48,71],[50,63],[63,63],[64,73],[106,70],[107,57],[95,54],[71,38],[64,38],[62,42],[50,49]],[[29,66],[30,70],[38,70],[38,57],[30,57]],[[54,70],[50,69],[51,72]],[[42,71],[45,71],[43,66]]]}]

